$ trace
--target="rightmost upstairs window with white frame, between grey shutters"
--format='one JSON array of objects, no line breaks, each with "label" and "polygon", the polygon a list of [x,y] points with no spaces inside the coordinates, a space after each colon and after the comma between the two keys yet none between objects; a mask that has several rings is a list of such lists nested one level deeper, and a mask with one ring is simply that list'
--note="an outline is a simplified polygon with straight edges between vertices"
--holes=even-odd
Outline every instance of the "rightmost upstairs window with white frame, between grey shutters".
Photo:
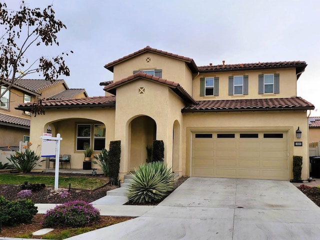
[{"label": "rightmost upstairs window with white frame, between grey shutters", "polygon": [[259,94],[279,93],[279,73],[259,74]]}]

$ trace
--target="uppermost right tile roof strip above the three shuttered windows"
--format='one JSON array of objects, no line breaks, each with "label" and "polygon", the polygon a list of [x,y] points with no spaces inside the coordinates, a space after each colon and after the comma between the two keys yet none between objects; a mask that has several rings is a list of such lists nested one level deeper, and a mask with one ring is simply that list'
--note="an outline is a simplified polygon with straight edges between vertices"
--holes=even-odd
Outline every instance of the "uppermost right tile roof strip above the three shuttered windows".
[{"label": "uppermost right tile roof strip above the three shuttered windows", "polygon": [[220,64],[198,66],[200,72],[217,72],[217,71],[238,71],[254,70],[269,68],[296,67],[296,72],[301,72],[306,67],[305,61],[273,61],[273,62],[255,62],[255,63],[238,63],[238,64]]}]

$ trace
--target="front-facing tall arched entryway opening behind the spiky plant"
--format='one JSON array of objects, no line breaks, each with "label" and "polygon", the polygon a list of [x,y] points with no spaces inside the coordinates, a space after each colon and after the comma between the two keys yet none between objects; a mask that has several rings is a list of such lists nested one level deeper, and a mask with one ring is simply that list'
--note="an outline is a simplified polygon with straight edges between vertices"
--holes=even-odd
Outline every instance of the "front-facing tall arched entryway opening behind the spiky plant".
[{"label": "front-facing tall arched entryway opening behind the spiky plant", "polygon": [[132,171],[145,162],[146,145],[151,146],[156,139],[156,123],[149,116],[138,116],[129,123],[128,168]]}]

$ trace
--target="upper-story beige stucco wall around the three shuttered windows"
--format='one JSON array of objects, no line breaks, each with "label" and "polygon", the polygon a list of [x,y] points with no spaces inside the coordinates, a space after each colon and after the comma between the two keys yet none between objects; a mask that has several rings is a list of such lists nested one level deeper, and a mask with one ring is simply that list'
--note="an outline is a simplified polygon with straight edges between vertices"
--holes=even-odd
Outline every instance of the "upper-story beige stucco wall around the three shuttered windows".
[{"label": "upper-story beige stucco wall around the three shuttered windows", "polygon": [[[267,73],[279,73],[280,92],[276,94],[258,94],[258,75]],[[228,77],[233,75],[248,75],[248,95],[228,95]],[[200,96],[200,77],[219,77],[218,96]],[[296,96],[295,68],[280,68],[266,70],[228,71],[201,73],[193,80],[193,98],[196,100],[218,99],[247,99],[268,97]]]}]

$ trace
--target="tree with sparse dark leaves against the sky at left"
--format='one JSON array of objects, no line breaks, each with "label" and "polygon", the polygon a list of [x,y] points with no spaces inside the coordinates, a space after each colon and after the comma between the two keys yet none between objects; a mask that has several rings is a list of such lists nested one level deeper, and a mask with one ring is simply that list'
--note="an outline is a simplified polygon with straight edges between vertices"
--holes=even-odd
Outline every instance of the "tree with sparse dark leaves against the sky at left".
[{"label": "tree with sparse dark leaves against the sky at left", "polygon": [[37,59],[27,57],[28,50],[34,51],[33,46],[59,45],[56,34],[66,26],[54,13],[52,5],[31,9],[22,1],[19,10],[12,10],[0,0],[0,85],[6,87],[0,97],[18,79],[30,73],[38,72],[49,81],[70,74],[63,59],[68,52],[53,57],[42,55]]}]

